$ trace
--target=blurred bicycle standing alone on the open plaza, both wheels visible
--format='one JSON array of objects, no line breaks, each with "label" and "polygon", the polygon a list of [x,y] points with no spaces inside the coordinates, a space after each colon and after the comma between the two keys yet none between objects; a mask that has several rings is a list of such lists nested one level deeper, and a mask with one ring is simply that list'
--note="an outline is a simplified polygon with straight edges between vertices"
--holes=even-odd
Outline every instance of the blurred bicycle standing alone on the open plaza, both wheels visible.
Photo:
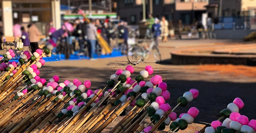
[{"label": "blurred bicycle standing alone on the open plaza, both wheels visible", "polygon": [[[143,42],[144,41],[138,41],[138,44]],[[151,51],[154,54],[154,58],[157,60],[156,62],[161,62],[161,54],[154,41],[151,42],[148,49],[138,44],[133,44],[128,47],[127,59],[131,64],[136,65],[139,64],[140,61],[144,61],[145,58],[148,58],[149,52]]]}]

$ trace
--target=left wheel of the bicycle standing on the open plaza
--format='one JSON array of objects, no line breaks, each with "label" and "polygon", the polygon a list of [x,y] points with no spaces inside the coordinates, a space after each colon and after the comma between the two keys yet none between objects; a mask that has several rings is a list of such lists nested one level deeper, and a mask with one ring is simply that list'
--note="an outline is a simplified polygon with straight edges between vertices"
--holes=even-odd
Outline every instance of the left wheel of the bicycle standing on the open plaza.
[{"label": "left wheel of the bicycle standing on the open plaza", "polygon": [[128,48],[127,59],[131,64],[139,64],[143,58],[143,50],[138,45]]}]

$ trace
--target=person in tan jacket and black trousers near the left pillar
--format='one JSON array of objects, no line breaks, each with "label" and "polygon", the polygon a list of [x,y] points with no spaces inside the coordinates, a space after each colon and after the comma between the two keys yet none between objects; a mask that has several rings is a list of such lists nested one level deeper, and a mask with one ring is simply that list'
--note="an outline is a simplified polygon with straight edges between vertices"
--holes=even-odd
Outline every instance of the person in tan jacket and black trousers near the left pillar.
[{"label": "person in tan jacket and black trousers near the left pillar", "polygon": [[29,40],[31,46],[31,52],[34,53],[38,47],[39,36],[42,35],[41,32],[38,31],[38,28],[35,26],[35,23],[32,23],[29,27]]}]

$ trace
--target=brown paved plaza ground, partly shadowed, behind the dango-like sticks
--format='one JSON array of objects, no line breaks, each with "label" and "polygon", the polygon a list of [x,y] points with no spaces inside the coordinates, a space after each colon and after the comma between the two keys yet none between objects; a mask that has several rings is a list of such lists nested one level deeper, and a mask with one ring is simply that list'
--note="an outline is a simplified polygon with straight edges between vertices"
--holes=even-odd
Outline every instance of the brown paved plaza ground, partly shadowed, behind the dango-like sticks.
[{"label": "brown paved plaza ground, partly shadowed, behind the dango-like sticks", "polygon": [[[234,98],[240,97],[244,101],[244,108],[241,114],[249,119],[256,119],[254,111],[256,110],[256,78],[232,73],[220,74],[218,71],[199,71],[200,65],[172,65],[169,52],[180,49],[184,46],[203,45],[212,43],[227,43],[231,40],[171,40],[168,43],[160,44],[162,64],[155,64],[154,58],[146,59],[136,66],[134,78],[147,65],[154,68],[154,75],[161,75],[163,81],[168,84],[168,90],[171,92],[171,99],[167,101],[172,107],[176,105],[176,99],[191,88],[200,91],[200,95],[187,107],[179,107],[175,111],[177,114],[186,112],[190,107],[197,107],[200,110],[196,123],[200,121],[208,122],[218,119],[219,112],[227,107],[227,104]],[[41,77],[51,78],[53,75],[59,75],[60,80],[73,80],[78,78],[81,81],[90,80],[93,90],[104,87],[111,74],[116,69],[125,69],[128,65],[126,57],[98,59],[96,61],[57,61],[49,62],[41,69]],[[224,67],[225,68],[225,67]],[[227,67],[228,68],[228,67]],[[255,67],[252,67],[254,69]],[[235,66],[236,69],[236,66]],[[150,80],[150,78],[146,79]],[[121,118],[118,118],[121,119]],[[113,124],[112,124],[113,125]],[[202,125],[193,124],[189,130],[179,133],[193,133],[199,130]],[[111,127],[108,127],[111,128]]]}]

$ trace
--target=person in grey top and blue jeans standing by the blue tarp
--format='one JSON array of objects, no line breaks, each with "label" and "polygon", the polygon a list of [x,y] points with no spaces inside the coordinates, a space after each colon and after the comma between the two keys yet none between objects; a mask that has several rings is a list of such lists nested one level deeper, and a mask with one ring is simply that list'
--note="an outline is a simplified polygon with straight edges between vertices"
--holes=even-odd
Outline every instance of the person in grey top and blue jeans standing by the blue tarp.
[{"label": "person in grey top and blue jeans standing by the blue tarp", "polygon": [[95,20],[91,20],[91,23],[86,26],[87,44],[90,45],[90,58],[94,60],[94,52],[96,47],[97,28],[95,26]]}]

